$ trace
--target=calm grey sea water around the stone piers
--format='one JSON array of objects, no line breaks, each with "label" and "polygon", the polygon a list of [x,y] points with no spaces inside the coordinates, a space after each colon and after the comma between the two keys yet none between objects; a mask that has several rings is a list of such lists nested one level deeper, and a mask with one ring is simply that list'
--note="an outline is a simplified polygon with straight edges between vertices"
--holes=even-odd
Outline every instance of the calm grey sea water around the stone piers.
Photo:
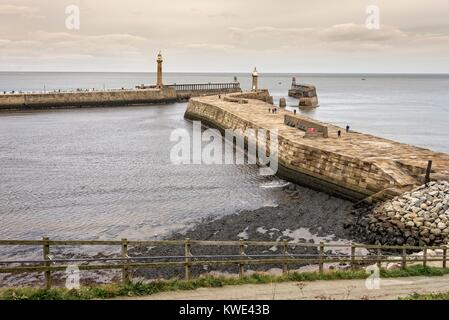
[{"label": "calm grey sea water around the stone piers", "polygon": [[[249,75],[235,75],[249,88]],[[277,102],[287,96],[291,77],[261,74],[261,87]],[[165,83],[233,78],[172,73]],[[145,73],[0,73],[0,91],[154,81]],[[311,117],[449,153],[448,75],[306,74],[298,81],[317,86],[321,106]],[[0,238],[148,239],[201,218],[286,201],[281,190],[267,188],[277,179],[259,176],[254,166],[172,165],[170,133],[191,128],[185,107],[1,113]]]}]

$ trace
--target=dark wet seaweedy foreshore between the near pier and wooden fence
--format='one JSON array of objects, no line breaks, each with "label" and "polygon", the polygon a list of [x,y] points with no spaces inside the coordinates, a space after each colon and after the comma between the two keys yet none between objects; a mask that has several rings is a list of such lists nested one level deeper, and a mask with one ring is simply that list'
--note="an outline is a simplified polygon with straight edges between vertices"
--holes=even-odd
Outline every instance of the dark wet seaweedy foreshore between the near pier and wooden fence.
[{"label": "dark wet seaweedy foreshore between the near pier and wooden fence", "polygon": [[[255,210],[243,210],[220,218],[207,218],[193,227],[181,232],[174,232],[164,239],[184,240],[254,240],[254,241],[277,241],[283,240],[291,243],[319,243],[328,241],[333,243],[350,243],[361,241],[362,238],[354,238],[351,226],[357,220],[357,210],[353,203],[317,192],[299,185],[290,183],[286,192],[291,196],[291,202],[276,207],[262,207]],[[356,234],[357,236],[357,234]],[[134,256],[164,256],[182,255],[184,248],[175,247],[135,247],[129,250]],[[276,254],[281,250],[277,246],[247,248],[250,254]],[[223,255],[236,254],[238,248],[211,246],[192,247],[193,255]],[[294,254],[316,254],[316,248],[291,248],[289,253]],[[349,252],[336,250],[336,254],[346,255]],[[303,269],[314,265],[295,264],[293,269]],[[346,265],[334,266],[345,268]],[[282,265],[251,266],[252,271],[278,272]],[[194,267],[192,274],[235,274],[238,273],[236,266],[217,267]],[[138,270],[135,276],[143,279],[182,277],[183,269],[146,269]]]}]

